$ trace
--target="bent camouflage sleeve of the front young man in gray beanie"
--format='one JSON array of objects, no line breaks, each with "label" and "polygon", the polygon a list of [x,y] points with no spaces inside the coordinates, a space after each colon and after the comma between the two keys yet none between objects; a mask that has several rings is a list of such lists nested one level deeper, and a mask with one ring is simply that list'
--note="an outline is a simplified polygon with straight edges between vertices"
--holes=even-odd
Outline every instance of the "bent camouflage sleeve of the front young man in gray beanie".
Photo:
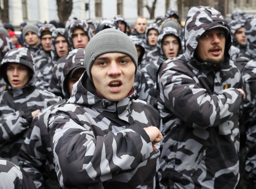
[{"label": "bent camouflage sleeve of the front young man in gray beanie", "polygon": [[95,136],[88,122],[92,118],[81,117],[79,108],[65,104],[52,111],[49,120],[55,170],[58,178],[60,174],[67,181],[64,185],[84,187],[114,179],[150,157],[152,144],[143,128],[132,125],[121,132]]}]

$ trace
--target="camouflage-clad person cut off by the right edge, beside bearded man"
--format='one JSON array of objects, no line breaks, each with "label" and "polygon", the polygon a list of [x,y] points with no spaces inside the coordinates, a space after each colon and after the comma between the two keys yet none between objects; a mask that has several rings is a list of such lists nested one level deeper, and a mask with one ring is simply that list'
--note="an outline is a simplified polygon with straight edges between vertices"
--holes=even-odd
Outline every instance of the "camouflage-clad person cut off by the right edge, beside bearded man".
[{"label": "camouflage-clad person cut off by the right edge, beside bearded man", "polygon": [[255,32],[256,18],[248,19],[245,22],[245,34],[247,39],[247,51],[239,57],[235,63],[242,67],[242,83],[247,94],[243,105],[243,120],[246,133],[245,165],[243,179],[248,182],[249,188],[256,188],[256,90],[255,90],[255,70],[256,70],[256,50]]}]

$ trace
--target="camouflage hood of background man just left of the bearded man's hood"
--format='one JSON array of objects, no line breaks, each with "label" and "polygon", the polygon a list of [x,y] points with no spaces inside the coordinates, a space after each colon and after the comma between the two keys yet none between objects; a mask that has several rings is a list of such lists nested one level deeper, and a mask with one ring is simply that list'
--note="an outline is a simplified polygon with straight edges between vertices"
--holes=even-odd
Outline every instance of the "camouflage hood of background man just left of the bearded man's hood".
[{"label": "camouflage hood of background man just left of the bearded man's hood", "polygon": [[182,45],[181,45],[181,38],[179,36],[179,32],[175,28],[165,27],[160,32],[160,34],[158,36],[158,43],[157,43],[158,53],[160,54],[160,57],[164,57],[164,60],[167,60],[167,58],[165,57],[164,52],[162,50],[162,40],[167,35],[173,35],[178,39],[178,41],[179,41],[179,53],[178,53],[178,55],[182,54]]}]

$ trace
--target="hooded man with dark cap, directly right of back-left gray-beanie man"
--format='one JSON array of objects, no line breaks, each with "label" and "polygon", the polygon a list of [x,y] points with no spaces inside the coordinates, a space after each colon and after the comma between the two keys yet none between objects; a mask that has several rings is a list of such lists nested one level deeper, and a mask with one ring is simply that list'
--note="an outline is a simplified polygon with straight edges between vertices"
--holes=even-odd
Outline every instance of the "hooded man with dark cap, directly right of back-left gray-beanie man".
[{"label": "hooded man with dark cap, directly right of back-left gray-beanie man", "polygon": [[44,24],[38,30],[40,36],[40,53],[34,57],[37,69],[36,86],[48,89],[52,77],[53,61],[51,59],[51,34],[56,30],[52,24]]}]

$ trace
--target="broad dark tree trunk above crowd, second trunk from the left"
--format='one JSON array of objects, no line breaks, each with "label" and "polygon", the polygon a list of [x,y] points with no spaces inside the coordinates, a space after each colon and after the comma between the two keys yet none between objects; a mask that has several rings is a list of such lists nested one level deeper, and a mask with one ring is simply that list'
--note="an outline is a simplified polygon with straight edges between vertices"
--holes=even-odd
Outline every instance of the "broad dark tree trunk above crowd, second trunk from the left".
[{"label": "broad dark tree trunk above crowd, second trunk from the left", "polygon": [[72,12],[73,0],[56,0],[56,3],[59,21],[65,23]]}]

